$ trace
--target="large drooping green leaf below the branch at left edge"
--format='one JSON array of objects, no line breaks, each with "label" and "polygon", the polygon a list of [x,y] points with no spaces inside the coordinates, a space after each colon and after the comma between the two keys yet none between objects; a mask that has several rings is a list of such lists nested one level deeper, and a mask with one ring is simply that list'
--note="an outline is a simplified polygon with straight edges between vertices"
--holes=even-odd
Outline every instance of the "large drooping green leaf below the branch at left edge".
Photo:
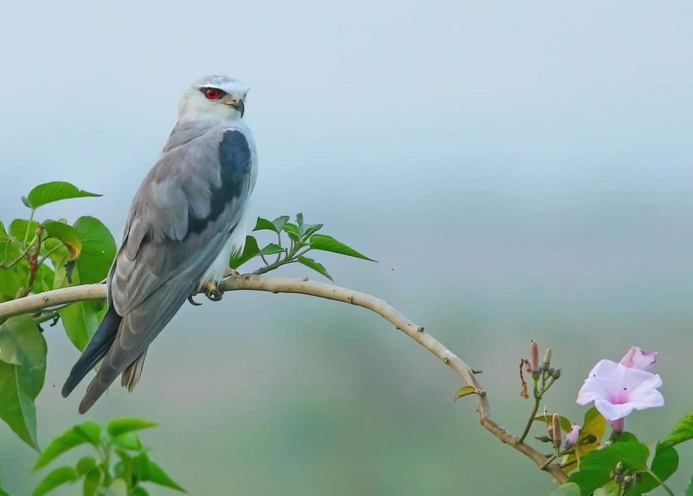
[{"label": "large drooping green leaf below the branch at left edge", "polygon": [[[46,375],[46,341],[28,315],[0,326],[0,341],[12,343],[11,363],[0,362],[0,418],[19,438],[38,450],[36,407]],[[5,351],[2,352],[5,355]]]}]

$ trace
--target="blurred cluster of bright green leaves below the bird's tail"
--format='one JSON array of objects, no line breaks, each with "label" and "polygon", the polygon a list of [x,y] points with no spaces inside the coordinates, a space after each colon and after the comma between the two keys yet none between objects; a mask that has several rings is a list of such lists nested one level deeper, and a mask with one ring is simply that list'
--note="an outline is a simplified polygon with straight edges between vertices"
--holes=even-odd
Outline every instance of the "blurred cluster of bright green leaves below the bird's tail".
[{"label": "blurred cluster of bright green leaves below the bird's tail", "polygon": [[49,472],[33,491],[33,496],[50,493],[64,484],[82,481],[84,496],[146,496],[143,483],[181,491],[171,477],[153,462],[136,434],[157,424],[139,418],[117,418],[106,426],[85,422],[73,425],[53,439],[36,461],[34,470],[44,468],[63,453],[89,445],[96,457],[82,457],[75,466],[60,466]]}]

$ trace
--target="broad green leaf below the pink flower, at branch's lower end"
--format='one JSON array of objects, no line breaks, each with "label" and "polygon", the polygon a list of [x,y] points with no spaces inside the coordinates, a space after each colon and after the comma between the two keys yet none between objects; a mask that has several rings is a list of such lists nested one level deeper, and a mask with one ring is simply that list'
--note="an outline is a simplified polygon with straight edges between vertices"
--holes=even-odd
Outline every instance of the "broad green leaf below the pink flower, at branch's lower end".
[{"label": "broad green leaf below the pink flower, at branch's lower end", "polygon": [[621,461],[631,472],[646,472],[649,450],[641,443],[615,443],[601,450],[593,450],[580,461],[580,470],[570,476],[570,481],[580,486],[583,496],[604,486],[611,477],[609,472]]}]

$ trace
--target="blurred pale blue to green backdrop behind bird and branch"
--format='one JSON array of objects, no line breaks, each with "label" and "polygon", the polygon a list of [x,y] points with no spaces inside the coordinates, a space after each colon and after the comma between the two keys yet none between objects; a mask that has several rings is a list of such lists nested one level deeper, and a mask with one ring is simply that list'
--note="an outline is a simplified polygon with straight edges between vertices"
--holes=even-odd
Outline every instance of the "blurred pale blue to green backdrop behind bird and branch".
[{"label": "blurred pale blue to green backdrop behind bird and branch", "polygon": [[[40,214],[96,215],[119,238],[179,94],[228,73],[252,87],[253,213],[303,211],[380,260],[316,257],[483,369],[499,423],[518,432],[530,408],[529,339],[563,366],[549,411],[581,419],[590,367],[631,345],[659,351],[667,405],[626,429],[655,440],[691,409],[690,3],[39,1],[3,19],[3,221],[63,179],[105,196]],[[83,387],[59,392],[78,353],[45,335],[44,446],[83,420]],[[186,305],[134,393],[86,418],[159,421],[143,439],[192,495],[548,494],[471,398],[453,402],[460,385],[365,310],[235,292]],[[676,493],[693,472],[679,452]],[[4,425],[0,457],[29,494],[36,455]]]}]

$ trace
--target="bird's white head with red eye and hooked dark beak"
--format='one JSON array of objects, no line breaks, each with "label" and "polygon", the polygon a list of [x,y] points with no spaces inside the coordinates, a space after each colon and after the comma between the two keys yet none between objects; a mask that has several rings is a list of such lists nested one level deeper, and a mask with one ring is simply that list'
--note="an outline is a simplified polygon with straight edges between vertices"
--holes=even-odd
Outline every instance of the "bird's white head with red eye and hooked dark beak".
[{"label": "bird's white head with red eye and hooked dark beak", "polygon": [[232,121],[243,117],[248,87],[229,76],[205,76],[180,99],[181,121]]}]

